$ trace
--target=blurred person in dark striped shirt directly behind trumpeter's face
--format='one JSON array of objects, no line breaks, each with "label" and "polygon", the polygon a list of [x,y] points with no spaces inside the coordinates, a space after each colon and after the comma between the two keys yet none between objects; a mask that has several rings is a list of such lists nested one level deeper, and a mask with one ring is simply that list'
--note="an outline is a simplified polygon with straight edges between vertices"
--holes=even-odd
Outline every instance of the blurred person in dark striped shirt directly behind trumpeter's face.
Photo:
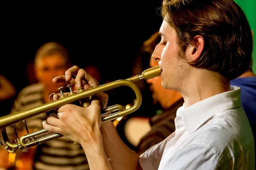
[{"label": "blurred person in dark striped shirt directly behind trumpeter's face", "polygon": [[[151,55],[160,40],[161,37],[157,31],[143,43],[145,53],[150,54],[150,68],[158,65],[158,62],[151,59]],[[184,103],[183,96],[179,92],[162,87],[160,76],[148,79],[146,82],[150,85],[153,104],[160,105],[160,107],[157,108],[156,115],[149,119],[151,130],[140,139],[140,143],[137,145],[136,152],[139,155],[154,144],[162,142],[175,131],[176,111]]]}]

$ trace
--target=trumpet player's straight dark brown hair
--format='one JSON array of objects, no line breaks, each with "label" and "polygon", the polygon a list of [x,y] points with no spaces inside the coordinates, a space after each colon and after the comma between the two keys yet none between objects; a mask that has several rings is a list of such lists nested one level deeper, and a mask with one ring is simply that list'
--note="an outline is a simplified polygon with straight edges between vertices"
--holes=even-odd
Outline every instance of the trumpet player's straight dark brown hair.
[{"label": "trumpet player's straight dark brown hair", "polygon": [[204,38],[203,52],[191,65],[217,71],[230,80],[248,71],[251,28],[233,0],[163,0],[161,14],[175,29],[182,51],[195,44],[195,36]]}]

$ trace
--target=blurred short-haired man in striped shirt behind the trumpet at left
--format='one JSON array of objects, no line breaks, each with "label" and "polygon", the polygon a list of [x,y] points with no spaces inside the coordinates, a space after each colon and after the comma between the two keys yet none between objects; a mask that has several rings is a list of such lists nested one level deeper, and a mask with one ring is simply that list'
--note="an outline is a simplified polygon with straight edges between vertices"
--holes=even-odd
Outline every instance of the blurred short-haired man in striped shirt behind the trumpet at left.
[{"label": "blurred short-haired man in striped shirt behind the trumpet at left", "polygon": [[[66,83],[52,83],[54,77],[65,74],[67,68],[73,64],[70,62],[67,49],[57,43],[48,42],[42,45],[35,54],[34,72],[38,82],[23,88],[17,95],[11,113],[24,111],[44,103],[50,102],[52,93],[59,93],[60,87],[66,87]],[[52,99],[51,99],[52,101]],[[42,122],[55,111],[41,113],[38,116],[26,120],[29,133],[43,129]],[[25,126],[18,122],[16,124],[21,135],[26,134]],[[13,127],[7,127],[7,133],[13,136]],[[11,138],[9,138],[11,140]],[[16,138],[15,138],[16,139]],[[88,170],[89,166],[81,145],[61,137],[44,144],[28,148],[28,153],[17,150],[17,161],[22,163],[21,169],[26,170]],[[9,153],[5,151],[6,153]],[[10,153],[12,154],[12,153]],[[30,155],[30,158],[29,158]],[[17,167],[18,168],[18,167]],[[24,169],[23,169],[24,170]]]}]

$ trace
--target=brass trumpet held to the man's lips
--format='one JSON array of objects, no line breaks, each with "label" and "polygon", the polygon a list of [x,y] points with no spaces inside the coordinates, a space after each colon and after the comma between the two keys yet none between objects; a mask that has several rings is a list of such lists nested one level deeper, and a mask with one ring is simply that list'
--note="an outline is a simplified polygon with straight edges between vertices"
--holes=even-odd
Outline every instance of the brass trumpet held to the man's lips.
[{"label": "brass trumpet held to the man's lips", "polygon": [[[24,111],[19,111],[17,113],[12,113],[10,115],[2,116],[0,117],[0,129],[2,133],[2,138],[5,143],[5,145],[0,141],[1,145],[4,147],[4,149],[8,152],[15,153],[17,149],[20,149],[23,152],[27,152],[29,147],[43,144],[45,142],[48,142],[52,139],[57,139],[62,137],[61,134],[58,133],[52,133],[45,129],[41,129],[38,131],[35,131],[33,133],[28,132],[28,128],[26,127],[26,119],[29,119],[31,117],[37,116],[41,113],[45,113],[48,111],[51,111],[53,109],[57,109],[63,105],[74,103],[79,101],[81,107],[87,107],[90,105],[88,98],[90,96],[93,96],[95,94],[98,94],[100,92],[108,91],[113,88],[118,88],[120,86],[128,86],[130,87],[136,96],[135,104],[131,106],[130,108],[125,108],[123,105],[113,105],[109,106],[108,108],[102,109],[101,111],[101,117],[102,122],[108,122],[113,121],[114,119],[117,119],[119,117],[128,115],[130,113],[133,113],[136,111],[142,102],[142,96],[140,89],[135,85],[134,82],[141,80],[141,79],[151,79],[154,77],[160,76],[162,70],[159,66],[156,66],[154,68],[149,68],[145,71],[143,71],[142,74],[139,74],[137,76],[128,78],[128,79],[121,79],[116,80],[113,82],[106,83],[104,85],[99,85],[96,88],[92,88],[90,90],[85,91],[83,88],[80,88],[77,92],[72,91],[71,85],[68,85],[70,92],[68,94],[63,93],[63,87],[58,88],[60,91],[60,95],[58,100],[50,101],[48,103],[45,103],[43,105],[39,105],[34,108],[30,108]],[[49,96],[50,97],[50,96]],[[23,121],[24,125],[26,127],[27,134],[23,135],[18,138],[17,131],[15,129],[15,133],[17,136],[17,139],[15,140],[15,143],[10,142],[6,127],[12,125],[15,128],[15,123]],[[75,144],[75,142],[74,142]]]}]

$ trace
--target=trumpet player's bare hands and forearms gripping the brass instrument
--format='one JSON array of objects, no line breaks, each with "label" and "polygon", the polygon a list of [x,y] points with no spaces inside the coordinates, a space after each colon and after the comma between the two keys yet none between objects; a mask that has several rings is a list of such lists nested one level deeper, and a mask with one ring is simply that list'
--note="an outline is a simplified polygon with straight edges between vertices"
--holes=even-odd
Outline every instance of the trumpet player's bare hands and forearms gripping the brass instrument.
[{"label": "trumpet player's bare hands and forearms gripping the brass instrument", "polygon": [[[76,76],[75,80],[72,79],[72,75]],[[85,81],[85,90],[99,86],[95,78],[77,66],[67,70],[66,76],[57,77],[52,81],[79,84],[77,88]],[[136,169],[139,156],[122,142],[113,123],[106,122],[101,125],[100,99],[105,108],[108,102],[107,94],[101,92],[96,96],[86,108],[69,104],[62,106],[58,109],[59,119],[49,117],[43,123],[44,128],[80,143],[91,170],[106,170],[111,167],[115,170]]]}]

